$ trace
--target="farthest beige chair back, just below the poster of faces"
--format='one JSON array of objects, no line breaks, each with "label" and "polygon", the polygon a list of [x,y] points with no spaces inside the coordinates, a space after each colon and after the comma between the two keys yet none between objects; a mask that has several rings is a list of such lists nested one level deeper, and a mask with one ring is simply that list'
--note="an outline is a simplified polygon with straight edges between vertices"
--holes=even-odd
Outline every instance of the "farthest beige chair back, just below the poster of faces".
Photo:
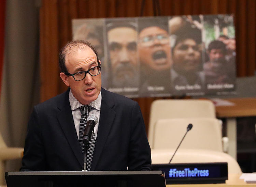
[{"label": "farthest beige chair back, just below the poster of faces", "polygon": [[160,99],[151,105],[148,141],[152,145],[154,125],[160,119],[216,118],[215,107],[210,100]]}]

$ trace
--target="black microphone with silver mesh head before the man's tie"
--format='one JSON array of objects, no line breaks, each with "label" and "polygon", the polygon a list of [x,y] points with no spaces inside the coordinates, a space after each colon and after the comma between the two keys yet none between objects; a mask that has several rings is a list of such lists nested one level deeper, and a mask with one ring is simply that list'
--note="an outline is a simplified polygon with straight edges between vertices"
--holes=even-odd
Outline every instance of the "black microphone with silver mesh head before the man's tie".
[{"label": "black microphone with silver mesh head before the man's tie", "polygon": [[94,126],[95,124],[98,123],[98,118],[94,114],[90,114],[87,118],[87,123],[86,127],[84,129],[84,134],[83,134],[83,142],[84,142],[84,149],[88,150],[89,149],[89,141],[91,140]]}]

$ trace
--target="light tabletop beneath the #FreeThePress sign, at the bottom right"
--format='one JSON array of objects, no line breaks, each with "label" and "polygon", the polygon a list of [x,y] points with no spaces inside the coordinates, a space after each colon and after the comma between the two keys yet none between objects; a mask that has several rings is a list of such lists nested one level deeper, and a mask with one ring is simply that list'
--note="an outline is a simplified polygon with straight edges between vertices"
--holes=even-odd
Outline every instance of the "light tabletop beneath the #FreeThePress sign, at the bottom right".
[{"label": "light tabletop beneath the #FreeThePress sign, at the bottom right", "polygon": [[239,174],[228,174],[228,180],[225,184],[172,184],[166,185],[166,187],[225,187],[225,186],[234,186],[234,187],[256,187],[256,184],[245,183],[244,180],[239,179]]}]

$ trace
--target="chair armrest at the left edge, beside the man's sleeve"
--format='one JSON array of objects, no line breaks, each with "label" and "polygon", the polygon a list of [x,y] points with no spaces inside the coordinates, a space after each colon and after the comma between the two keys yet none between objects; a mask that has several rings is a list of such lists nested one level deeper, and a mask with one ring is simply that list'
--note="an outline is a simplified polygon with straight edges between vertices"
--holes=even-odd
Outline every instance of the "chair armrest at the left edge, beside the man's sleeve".
[{"label": "chair armrest at the left edge, beside the man's sleeve", "polygon": [[22,147],[1,147],[0,160],[10,160],[23,157]]}]

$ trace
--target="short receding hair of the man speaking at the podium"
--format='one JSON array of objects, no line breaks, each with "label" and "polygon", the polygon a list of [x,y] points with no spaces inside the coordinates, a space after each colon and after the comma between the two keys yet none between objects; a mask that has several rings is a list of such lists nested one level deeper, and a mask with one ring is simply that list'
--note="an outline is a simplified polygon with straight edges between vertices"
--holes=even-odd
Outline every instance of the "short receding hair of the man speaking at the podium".
[{"label": "short receding hair of the man speaking at the podium", "polygon": [[84,41],[84,40],[74,40],[74,41],[68,42],[59,51],[59,67],[60,67],[60,72],[68,73],[67,67],[65,65],[66,53],[69,50],[73,50],[74,47],[82,48],[84,46],[87,46],[87,47],[89,47],[89,48],[91,48],[93,50],[93,52],[96,54],[97,62],[99,62],[98,52],[97,52],[96,48],[93,45],[91,45],[89,42]]}]

